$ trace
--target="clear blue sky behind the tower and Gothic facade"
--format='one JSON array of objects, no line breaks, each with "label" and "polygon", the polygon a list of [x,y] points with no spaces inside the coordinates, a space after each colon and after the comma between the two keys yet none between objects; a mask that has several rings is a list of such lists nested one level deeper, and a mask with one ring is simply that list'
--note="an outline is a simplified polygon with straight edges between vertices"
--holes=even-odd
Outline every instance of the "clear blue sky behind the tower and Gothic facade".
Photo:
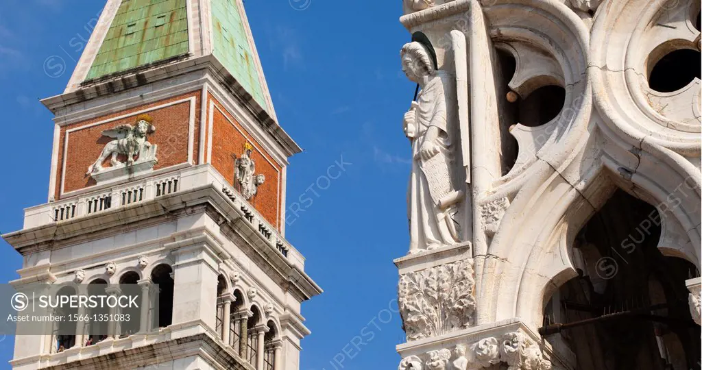
[{"label": "clear blue sky behind the tower and Gothic facade", "polygon": [[[409,39],[398,21],[402,2],[307,1],[246,1],[279,121],[305,149],[291,158],[288,205],[303,194],[313,199],[289,218],[287,232],[325,290],[303,305],[312,335],[300,369],[392,369],[404,339],[399,315],[390,316],[397,311],[392,259],[408,246],[402,114],[414,92],[399,67]],[[22,227],[22,209],[46,201],[53,123],[38,100],[62,92],[104,3],[0,2],[2,233]],[[65,67],[54,58],[45,68],[55,56]],[[308,190],[341,159],[350,163],[342,176],[314,185],[317,194]],[[0,260],[0,282],[15,279],[22,260],[3,241]],[[0,368],[9,367],[12,351],[12,338],[0,342]]]}]

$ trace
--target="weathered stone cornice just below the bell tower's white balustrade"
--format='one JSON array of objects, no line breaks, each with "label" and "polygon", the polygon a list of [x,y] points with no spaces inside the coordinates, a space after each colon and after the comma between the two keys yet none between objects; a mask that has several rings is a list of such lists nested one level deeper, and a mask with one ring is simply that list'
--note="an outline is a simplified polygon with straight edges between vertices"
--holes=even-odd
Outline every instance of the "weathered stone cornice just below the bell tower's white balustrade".
[{"label": "weathered stone cornice just below the bell tower's white balustrade", "polygon": [[[88,218],[77,218],[62,223],[11,232],[2,237],[18,252],[26,255],[107,237],[124,232],[125,227],[135,227],[136,223],[139,223],[139,227],[145,227],[178,218],[180,214],[198,212],[207,213],[215,220],[219,218],[230,220],[228,223],[220,225],[220,227],[224,227],[224,234],[234,240],[243,241],[244,243],[235,244],[263,270],[270,271],[271,277],[282,286],[287,286],[289,292],[299,300],[308,300],[312,296],[322,293],[322,289],[300,267],[294,265],[279,251],[264,242],[263,237],[256,230],[253,230],[251,225],[247,225],[246,220],[241,219],[230,201],[225,199],[224,195],[213,185],[184,190],[159,199],[143,201],[135,206],[98,213]],[[184,247],[185,244],[193,245],[193,243],[201,242],[207,246],[206,249],[212,256],[223,260],[231,258],[230,252],[226,251],[221,242],[212,237],[206,230],[189,230],[186,234],[176,234],[176,237],[187,240],[175,241],[172,235],[160,242],[163,243],[164,247]],[[158,241],[151,241],[151,243],[153,242]],[[133,246],[124,247],[124,249],[131,248]],[[116,251],[106,253],[114,252]],[[67,263],[70,262],[67,261]],[[25,275],[24,272],[22,275]],[[27,275],[27,279],[37,279],[37,277]]]}]

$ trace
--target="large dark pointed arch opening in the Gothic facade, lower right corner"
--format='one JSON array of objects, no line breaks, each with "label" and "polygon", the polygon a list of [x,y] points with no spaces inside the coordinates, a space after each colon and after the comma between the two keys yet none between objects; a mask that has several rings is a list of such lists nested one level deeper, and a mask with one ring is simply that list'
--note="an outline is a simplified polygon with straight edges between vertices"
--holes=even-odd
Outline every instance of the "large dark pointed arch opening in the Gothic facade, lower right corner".
[{"label": "large dark pointed arch opening in the Gothic facade, lower right corner", "polygon": [[622,190],[576,236],[578,277],[550,297],[540,329],[575,369],[700,369],[685,286],[694,265],[663,256],[660,238],[656,208]]}]

